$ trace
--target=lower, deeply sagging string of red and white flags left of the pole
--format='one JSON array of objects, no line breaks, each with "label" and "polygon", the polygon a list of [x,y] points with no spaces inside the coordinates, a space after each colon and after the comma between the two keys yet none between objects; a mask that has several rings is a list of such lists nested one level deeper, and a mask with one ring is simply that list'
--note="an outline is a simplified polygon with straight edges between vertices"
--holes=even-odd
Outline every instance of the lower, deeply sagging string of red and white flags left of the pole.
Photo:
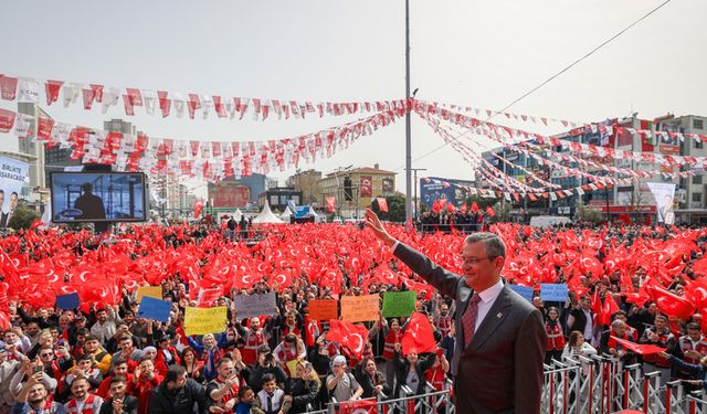
[{"label": "lower, deeply sagging string of red and white flags left of the pole", "polygon": [[107,163],[118,171],[172,173],[186,178],[220,181],[226,177],[297,168],[317,157],[330,158],[339,148],[348,148],[404,116],[405,109],[387,110],[307,135],[263,141],[196,141],[155,138],[87,128],[50,118],[0,109],[0,132],[13,131],[20,138],[34,136],[49,147],[72,149],[72,160]]}]

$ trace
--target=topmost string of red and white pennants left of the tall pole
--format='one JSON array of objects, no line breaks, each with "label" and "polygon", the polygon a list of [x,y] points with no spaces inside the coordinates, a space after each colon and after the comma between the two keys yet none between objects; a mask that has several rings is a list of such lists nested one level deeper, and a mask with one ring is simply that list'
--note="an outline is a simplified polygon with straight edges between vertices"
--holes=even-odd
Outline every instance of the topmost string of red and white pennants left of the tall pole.
[{"label": "topmost string of red and white pennants left of the tall pole", "polygon": [[[43,86],[43,87],[42,87]],[[101,106],[105,114],[110,107],[123,102],[125,115],[134,116],[135,108],[144,108],[147,115],[161,114],[162,118],[189,116],[194,119],[201,114],[203,119],[215,114],[221,119],[243,119],[246,115],[253,120],[268,118],[305,119],[307,115],[318,117],[381,113],[405,107],[405,99],[367,102],[303,102],[291,99],[266,99],[197,93],[180,93],[135,87],[115,87],[102,84],[77,83],[52,79],[36,79],[27,76],[0,74],[0,97],[20,103],[40,103],[44,93],[48,106],[62,102],[64,107],[83,104],[85,110],[94,105]]]}]

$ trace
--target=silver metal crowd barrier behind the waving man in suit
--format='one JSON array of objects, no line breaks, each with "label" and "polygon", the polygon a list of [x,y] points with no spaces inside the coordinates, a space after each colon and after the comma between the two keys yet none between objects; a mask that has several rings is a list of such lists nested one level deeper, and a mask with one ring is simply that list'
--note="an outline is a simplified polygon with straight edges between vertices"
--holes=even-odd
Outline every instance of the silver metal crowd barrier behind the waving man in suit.
[{"label": "silver metal crowd barrier behind the waving man in suit", "polygon": [[[707,395],[703,389],[688,392],[683,381],[661,384],[661,373],[644,373],[641,364],[593,355],[545,367],[540,412],[544,414],[610,414],[639,411],[645,414],[707,414]],[[499,384],[500,385],[500,384]],[[451,382],[437,391],[426,383],[425,393],[414,395],[402,386],[398,399],[366,403],[378,413],[454,414]],[[360,403],[359,403],[360,404]],[[334,402],[315,414],[356,413],[355,402]],[[365,411],[360,411],[365,412]],[[461,413],[460,413],[461,414]]]}]

